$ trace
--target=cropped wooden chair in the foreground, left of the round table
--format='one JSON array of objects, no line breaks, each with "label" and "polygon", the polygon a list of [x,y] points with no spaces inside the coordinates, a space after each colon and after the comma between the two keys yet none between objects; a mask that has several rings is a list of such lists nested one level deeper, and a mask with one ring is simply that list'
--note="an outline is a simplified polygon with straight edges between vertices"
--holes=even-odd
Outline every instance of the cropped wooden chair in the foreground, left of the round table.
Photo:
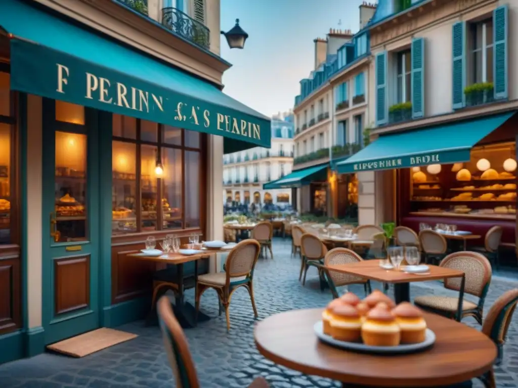
[{"label": "cropped wooden chair in the foreground, left of the round table", "polygon": [[[172,311],[167,296],[160,299],[157,308],[164,347],[169,365],[175,375],[176,386],[178,388],[199,388],[198,375],[187,339]],[[268,388],[269,385],[263,377],[257,377],[248,387]]]}]

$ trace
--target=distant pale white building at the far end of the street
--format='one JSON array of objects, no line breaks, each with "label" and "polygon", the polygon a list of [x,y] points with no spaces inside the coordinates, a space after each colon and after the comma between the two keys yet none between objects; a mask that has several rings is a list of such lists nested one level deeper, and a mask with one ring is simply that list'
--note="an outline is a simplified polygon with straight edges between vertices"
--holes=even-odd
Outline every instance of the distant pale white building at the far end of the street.
[{"label": "distant pale white building at the far end of the street", "polygon": [[263,185],[292,172],[293,135],[293,113],[279,113],[271,120],[271,148],[254,147],[225,155],[224,203],[292,204],[290,189],[268,189]]}]

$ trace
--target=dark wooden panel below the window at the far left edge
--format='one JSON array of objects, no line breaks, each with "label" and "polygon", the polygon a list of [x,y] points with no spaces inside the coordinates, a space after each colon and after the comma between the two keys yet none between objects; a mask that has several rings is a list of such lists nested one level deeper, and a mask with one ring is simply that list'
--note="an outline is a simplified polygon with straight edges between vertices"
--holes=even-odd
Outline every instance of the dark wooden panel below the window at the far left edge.
[{"label": "dark wooden panel below the window at the far left edge", "polygon": [[20,249],[0,247],[0,335],[21,327]]}]

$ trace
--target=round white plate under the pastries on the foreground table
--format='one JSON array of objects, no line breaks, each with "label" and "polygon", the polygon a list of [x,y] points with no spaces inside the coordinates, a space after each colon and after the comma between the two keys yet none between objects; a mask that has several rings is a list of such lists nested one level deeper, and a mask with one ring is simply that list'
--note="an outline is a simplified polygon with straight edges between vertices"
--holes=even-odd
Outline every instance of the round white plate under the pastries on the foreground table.
[{"label": "round white plate under the pastries on the foreground table", "polygon": [[361,342],[339,341],[333,337],[324,334],[322,321],[316,322],[313,326],[316,336],[328,345],[335,346],[344,350],[352,350],[361,353],[374,354],[408,354],[422,352],[434,345],[435,333],[430,329],[426,329],[426,337],[420,344],[405,344],[398,346],[368,346]]}]

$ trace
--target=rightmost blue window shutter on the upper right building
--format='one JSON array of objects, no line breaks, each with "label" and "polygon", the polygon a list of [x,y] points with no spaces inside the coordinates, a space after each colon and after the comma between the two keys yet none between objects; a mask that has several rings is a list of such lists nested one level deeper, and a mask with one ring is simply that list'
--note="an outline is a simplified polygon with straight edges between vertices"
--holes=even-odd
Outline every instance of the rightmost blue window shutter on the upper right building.
[{"label": "rightmost blue window shutter on the upper right building", "polygon": [[495,99],[507,98],[507,5],[493,11],[493,81]]}]

